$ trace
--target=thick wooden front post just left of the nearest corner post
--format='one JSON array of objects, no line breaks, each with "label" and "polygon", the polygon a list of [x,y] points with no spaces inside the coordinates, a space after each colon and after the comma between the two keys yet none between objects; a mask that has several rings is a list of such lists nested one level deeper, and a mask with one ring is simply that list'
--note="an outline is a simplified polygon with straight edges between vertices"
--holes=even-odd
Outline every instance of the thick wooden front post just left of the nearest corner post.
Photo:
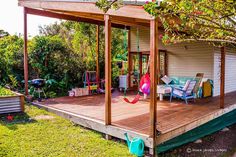
[{"label": "thick wooden front post just left of the nearest corner post", "polygon": [[105,19],[105,124],[111,124],[111,19]]}]

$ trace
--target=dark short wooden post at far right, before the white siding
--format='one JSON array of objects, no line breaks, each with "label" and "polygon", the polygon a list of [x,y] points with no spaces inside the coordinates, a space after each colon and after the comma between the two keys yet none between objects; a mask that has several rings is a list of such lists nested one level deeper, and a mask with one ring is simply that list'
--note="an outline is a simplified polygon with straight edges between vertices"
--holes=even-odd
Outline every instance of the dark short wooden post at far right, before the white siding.
[{"label": "dark short wooden post at far right, before the white siding", "polygon": [[221,69],[220,69],[220,108],[225,103],[225,47],[221,47]]}]

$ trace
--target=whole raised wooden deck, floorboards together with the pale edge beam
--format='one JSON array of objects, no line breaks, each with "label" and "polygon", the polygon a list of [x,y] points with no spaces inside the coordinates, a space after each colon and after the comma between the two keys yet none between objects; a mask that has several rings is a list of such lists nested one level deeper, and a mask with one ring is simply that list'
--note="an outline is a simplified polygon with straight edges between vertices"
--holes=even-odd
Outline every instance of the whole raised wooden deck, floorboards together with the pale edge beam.
[{"label": "whole raised wooden deck, floorboards together with the pale edge beam", "polygon": [[[174,100],[172,103],[168,99],[157,103],[157,130],[161,133],[157,137],[157,144],[176,137],[197,126],[204,124],[216,117],[219,117],[236,108],[236,92],[227,94],[225,97],[225,108],[219,108],[219,98],[204,98],[196,100],[186,105],[183,101]],[[129,94],[132,99],[134,94]],[[141,100],[137,104],[128,104],[123,100],[122,93],[112,94],[112,126],[116,129],[142,135],[147,141],[149,134],[149,99]],[[34,104],[64,114],[77,115],[81,120],[91,120],[97,124],[104,124],[105,108],[104,95],[93,95],[86,97],[60,97],[48,99],[45,102],[35,102]],[[63,116],[62,114],[60,114]],[[65,116],[64,116],[65,117]],[[68,118],[68,117],[67,117]],[[69,117],[70,119],[70,117]],[[93,124],[82,124],[100,132]],[[103,128],[108,129],[108,128]],[[120,131],[121,131],[120,130]],[[122,132],[117,137],[120,138]],[[116,134],[112,134],[115,136]],[[146,144],[148,142],[145,142]],[[149,145],[149,144],[147,144]]]}]

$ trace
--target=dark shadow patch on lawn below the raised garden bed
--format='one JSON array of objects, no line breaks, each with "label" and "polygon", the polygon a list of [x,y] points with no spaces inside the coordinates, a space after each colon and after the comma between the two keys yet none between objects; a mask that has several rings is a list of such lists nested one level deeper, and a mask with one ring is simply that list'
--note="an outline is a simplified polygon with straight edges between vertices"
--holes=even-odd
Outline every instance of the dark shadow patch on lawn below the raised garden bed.
[{"label": "dark shadow patch on lawn below the raised garden bed", "polygon": [[[12,120],[9,120],[8,116],[12,117]],[[35,119],[32,119],[27,113],[9,113],[9,114],[0,114],[0,125],[6,126],[10,130],[16,130],[17,124],[29,124],[37,122]]]}]

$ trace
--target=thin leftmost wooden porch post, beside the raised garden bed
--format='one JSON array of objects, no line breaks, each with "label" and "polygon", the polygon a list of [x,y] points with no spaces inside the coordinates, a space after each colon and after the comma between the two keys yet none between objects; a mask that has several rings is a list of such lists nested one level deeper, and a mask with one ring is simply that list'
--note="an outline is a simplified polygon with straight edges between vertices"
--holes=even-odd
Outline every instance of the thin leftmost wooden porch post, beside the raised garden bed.
[{"label": "thin leftmost wooden porch post, beside the raised garden bed", "polygon": [[24,7],[24,79],[25,95],[28,95],[28,50],[27,50],[27,10]]}]

